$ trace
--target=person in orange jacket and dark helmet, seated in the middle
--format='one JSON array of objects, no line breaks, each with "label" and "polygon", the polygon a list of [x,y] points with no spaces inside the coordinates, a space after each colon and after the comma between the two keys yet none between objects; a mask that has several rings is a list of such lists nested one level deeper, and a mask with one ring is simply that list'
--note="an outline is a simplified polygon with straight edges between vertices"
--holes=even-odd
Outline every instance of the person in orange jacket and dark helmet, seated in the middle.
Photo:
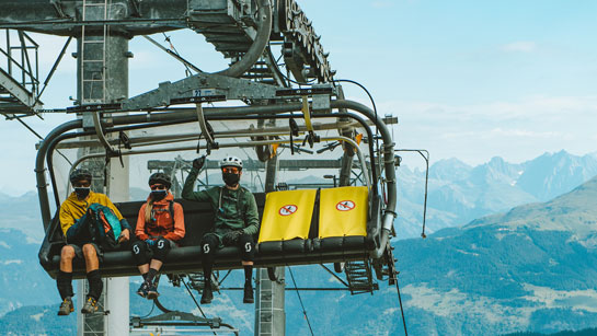
[{"label": "person in orange jacket and dark helmet, seated in the middle", "polygon": [[143,282],[137,290],[141,298],[156,299],[160,296],[153,279],[170,248],[177,246],[176,242],[185,234],[183,207],[174,201],[174,196],[170,193],[171,186],[170,176],[164,173],[149,176],[151,193],[139,209],[135,228],[138,241],[133,244],[133,255],[143,277]]}]

